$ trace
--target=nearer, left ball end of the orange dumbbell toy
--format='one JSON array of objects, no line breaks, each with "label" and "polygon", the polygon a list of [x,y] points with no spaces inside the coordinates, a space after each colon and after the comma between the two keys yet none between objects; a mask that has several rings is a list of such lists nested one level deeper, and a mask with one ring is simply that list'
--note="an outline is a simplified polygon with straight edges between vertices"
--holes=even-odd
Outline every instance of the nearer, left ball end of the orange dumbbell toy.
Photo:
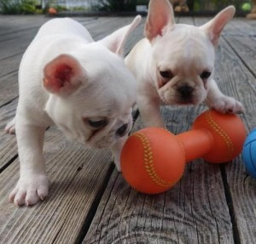
[{"label": "nearer, left ball end of the orange dumbbell toy", "polygon": [[144,128],[133,133],[121,153],[124,178],[143,193],[168,190],[182,177],[184,166],[183,147],[163,128]]}]

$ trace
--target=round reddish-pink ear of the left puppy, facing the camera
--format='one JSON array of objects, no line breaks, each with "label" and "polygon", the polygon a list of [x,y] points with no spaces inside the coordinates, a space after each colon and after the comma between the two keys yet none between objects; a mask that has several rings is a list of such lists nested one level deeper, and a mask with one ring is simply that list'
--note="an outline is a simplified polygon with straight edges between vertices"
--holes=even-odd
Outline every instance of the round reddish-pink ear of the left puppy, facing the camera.
[{"label": "round reddish-pink ear of the left puppy, facing the camera", "polygon": [[72,94],[85,76],[79,61],[71,55],[61,54],[44,67],[44,88],[52,94]]}]

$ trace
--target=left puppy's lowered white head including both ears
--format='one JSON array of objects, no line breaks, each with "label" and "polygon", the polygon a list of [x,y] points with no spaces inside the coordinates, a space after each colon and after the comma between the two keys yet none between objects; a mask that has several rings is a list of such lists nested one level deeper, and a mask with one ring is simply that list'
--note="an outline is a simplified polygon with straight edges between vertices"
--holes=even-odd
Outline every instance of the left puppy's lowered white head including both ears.
[{"label": "left puppy's lowered white head including both ears", "polygon": [[45,65],[45,111],[68,138],[109,148],[131,130],[136,81],[119,55],[137,21]]}]

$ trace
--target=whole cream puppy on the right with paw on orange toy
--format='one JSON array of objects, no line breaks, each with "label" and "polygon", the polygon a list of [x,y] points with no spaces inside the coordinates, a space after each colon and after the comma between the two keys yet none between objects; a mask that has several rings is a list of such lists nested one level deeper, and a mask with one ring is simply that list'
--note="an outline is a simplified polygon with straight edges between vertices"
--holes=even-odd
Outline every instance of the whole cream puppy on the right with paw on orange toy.
[{"label": "whole cream puppy on the right with paw on orange toy", "polygon": [[147,127],[165,127],[160,105],[197,105],[203,101],[222,113],[243,110],[220,92],[213,80],[214,48],[235,14],[230,6],[207,24],[175,24],[168,0],[150,0],[144,35],[126,57],[137,78],[137,106]]}]

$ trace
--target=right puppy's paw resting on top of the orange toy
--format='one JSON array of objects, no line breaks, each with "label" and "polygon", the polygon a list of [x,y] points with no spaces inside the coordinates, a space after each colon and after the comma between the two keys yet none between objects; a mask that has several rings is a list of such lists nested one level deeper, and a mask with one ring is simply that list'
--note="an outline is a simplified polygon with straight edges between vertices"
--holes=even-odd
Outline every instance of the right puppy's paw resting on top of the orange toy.
[{"label": "right puppy's paw resting on top of the orange toy", "polygon": [[244,111],[239,101],[228,96],[221,96],[215,99],[209,107],[221,113],[241,113]]}]

